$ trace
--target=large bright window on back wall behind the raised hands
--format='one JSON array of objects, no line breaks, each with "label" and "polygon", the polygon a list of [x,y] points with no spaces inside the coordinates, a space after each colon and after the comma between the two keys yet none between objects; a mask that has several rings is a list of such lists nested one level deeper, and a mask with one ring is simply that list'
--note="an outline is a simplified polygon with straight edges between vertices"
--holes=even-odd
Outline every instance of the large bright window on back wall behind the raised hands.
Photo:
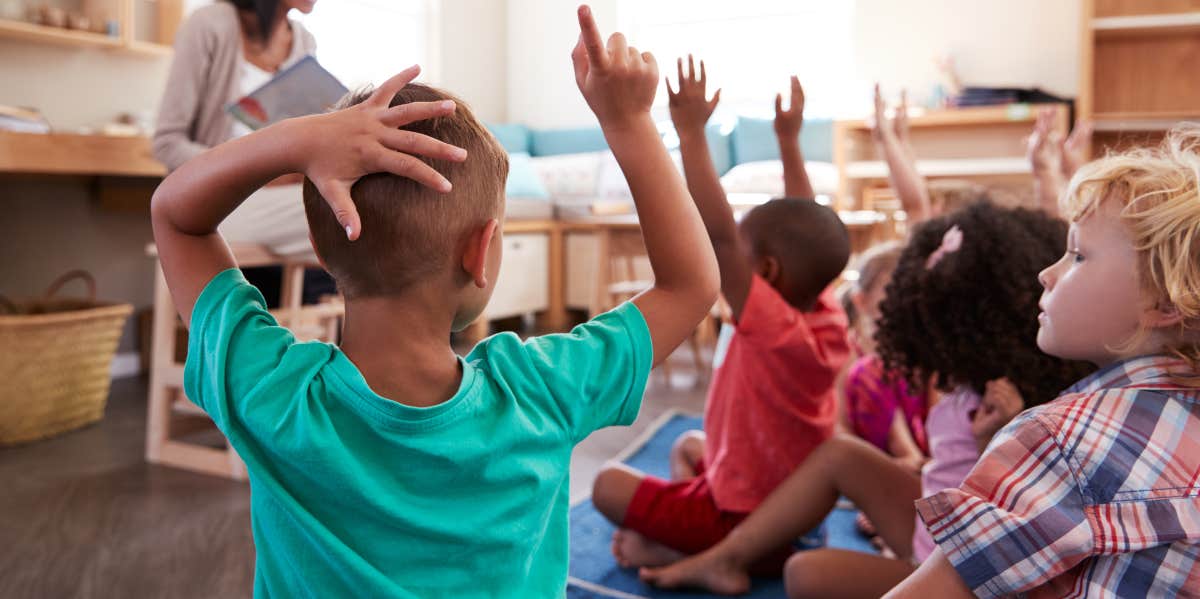
[{"label": "large bright window on back wall behind the raised hands", "polygon": [[[853,0],[622,0],[618,19],[672,79],[676,58],[694,53],[708,66],[709,91],[721,88],[724,115],[774,115],[775,94],[797,74],[805,114],[840,116],[862,106],[854,80]],[[700,68],[697,62],[696,68]],[[655,113],[666,115],[660,84]],[[853,112],[852,109],[850,112]]]}]

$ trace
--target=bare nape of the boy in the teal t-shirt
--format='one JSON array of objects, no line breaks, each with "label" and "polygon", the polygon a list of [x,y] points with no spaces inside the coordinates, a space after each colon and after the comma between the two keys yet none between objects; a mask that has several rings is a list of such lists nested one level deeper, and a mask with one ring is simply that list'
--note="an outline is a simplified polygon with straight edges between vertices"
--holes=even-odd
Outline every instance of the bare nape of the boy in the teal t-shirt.
[{"label": "bare nape of the boy in the teal t-shirt", "polygon": [[346,303],[342,352],[371,389],[413,407],[442,403],[462,382],[450,347],[455,306],[444,290]]}]

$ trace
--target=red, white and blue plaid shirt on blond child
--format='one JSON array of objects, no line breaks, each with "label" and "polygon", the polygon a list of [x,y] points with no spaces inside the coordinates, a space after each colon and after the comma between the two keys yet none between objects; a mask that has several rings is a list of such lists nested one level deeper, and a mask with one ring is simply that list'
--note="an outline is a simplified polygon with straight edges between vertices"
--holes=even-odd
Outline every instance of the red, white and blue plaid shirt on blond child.
[{"label": "red, white and blue plaid shirt on blond child", "polygon": [[917,510],[979,597],[1200,597],[1200,389],[1146,357],[1006,426]]}]

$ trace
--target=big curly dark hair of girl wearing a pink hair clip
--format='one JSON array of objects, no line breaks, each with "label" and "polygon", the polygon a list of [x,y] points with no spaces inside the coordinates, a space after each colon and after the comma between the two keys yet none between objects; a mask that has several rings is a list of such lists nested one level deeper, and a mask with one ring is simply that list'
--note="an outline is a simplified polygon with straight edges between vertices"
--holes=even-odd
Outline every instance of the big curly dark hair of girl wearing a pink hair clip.
[{"label": "big curly dark hair of girl wearing a pink hair clip", "polygon": [[[926,269],[954,226],[961,247]],[[941,390],[982,395],[988,381],[1008,377],[1026,407],[1055,399],[1094,370],[1037,345],[1038,272],[1066,245],[1066,222],[986,200],[917,226],[880,305],[875,339],[883,363],[914,389],[936,376]]]}]

